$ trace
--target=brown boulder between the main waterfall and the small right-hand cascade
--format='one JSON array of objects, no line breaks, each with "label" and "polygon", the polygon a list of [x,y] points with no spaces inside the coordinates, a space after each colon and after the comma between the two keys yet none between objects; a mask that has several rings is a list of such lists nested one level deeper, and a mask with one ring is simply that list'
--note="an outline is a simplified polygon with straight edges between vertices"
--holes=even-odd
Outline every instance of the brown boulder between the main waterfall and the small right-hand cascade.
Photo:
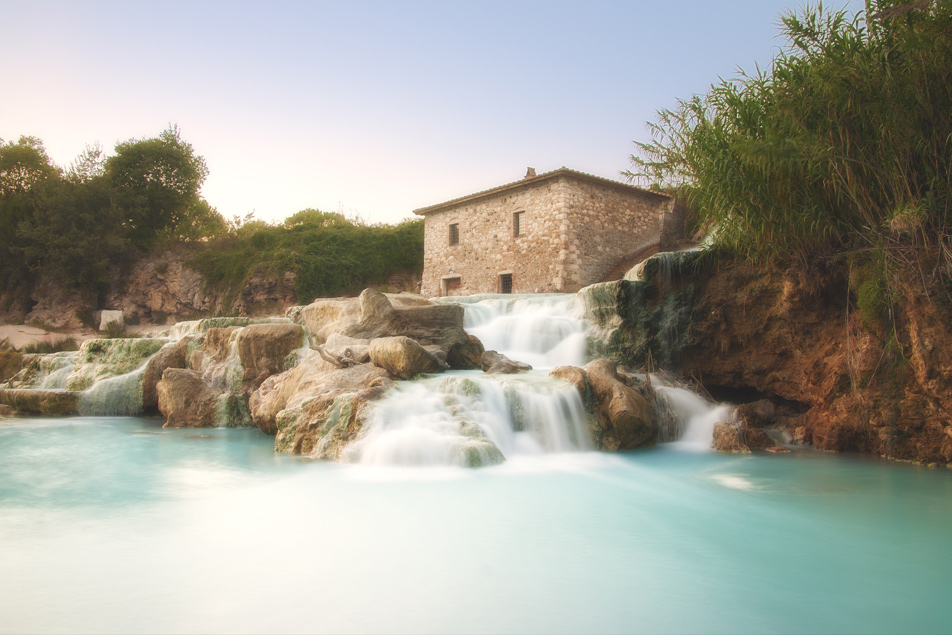
[{"label": "brown boulder between the main waterfall and the small right-hand cascade", "polygon": [[[606,450],[629,450],[657,441],[658,427],[648,400],[625,385],[615,363],[596,359],[584,368],[599,427],[593,437]],[[600,432],[600,434],[598,434]]]}]

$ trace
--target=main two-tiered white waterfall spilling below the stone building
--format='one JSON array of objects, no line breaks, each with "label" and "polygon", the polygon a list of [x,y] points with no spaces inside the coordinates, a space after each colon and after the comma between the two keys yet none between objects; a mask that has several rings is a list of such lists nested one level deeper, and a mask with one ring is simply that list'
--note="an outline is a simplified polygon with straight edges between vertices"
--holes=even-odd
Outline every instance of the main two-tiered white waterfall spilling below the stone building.
[{"label": "main two-tiered white waterfall spilling below the stone building", "polygon": [[513,455],[591,449],[578,390],[548,376],[554,366],[584,363],[585,331],[575,296],[453,300],[465,309],[467,332],[487,350],[534,370],[458,371],[404,382],[376,405],[345,459],[371,465],[487,465]]}]

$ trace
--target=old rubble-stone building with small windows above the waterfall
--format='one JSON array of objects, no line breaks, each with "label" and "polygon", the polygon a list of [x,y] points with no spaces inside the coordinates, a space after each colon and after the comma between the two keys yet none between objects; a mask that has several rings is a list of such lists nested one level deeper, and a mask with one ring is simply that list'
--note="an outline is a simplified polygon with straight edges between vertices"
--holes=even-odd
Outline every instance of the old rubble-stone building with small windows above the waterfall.
[{"label": "old rubble-stone building with small windows above the waterfall", "polygon": [[[425,296],[572,292],[662,238],[666,194],[560,168],[439,205],[424,217]],[[632,263],[634,264],[634,263]]]}]

